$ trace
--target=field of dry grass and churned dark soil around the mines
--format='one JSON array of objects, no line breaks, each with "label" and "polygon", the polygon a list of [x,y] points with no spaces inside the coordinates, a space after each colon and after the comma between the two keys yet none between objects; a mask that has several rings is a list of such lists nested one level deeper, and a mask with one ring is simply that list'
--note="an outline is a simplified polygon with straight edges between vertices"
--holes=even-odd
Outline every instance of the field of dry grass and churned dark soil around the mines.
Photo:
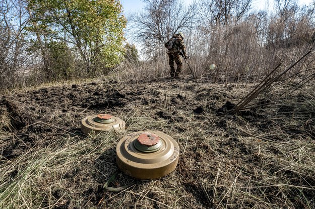
[{"label": "field of dry grass and churned dark soil around the mines", "polygon": [[[314,86],[276,85],[229,114],[255,83],[161,79],[25,89],[0,95],[0,208],[315,208]],[[85,136],[81,120],[107,113],[123,132]],[[179,144],[159,180],[117,171],[125,134],[161,131]]]}]

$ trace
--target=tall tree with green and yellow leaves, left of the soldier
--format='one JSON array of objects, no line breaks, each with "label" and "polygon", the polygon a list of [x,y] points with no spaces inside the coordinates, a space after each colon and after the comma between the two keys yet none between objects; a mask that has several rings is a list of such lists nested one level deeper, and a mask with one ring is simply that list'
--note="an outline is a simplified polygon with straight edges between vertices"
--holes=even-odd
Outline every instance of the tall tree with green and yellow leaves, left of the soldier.
[{"label": "tall tree with green and yellow leaves, left of the soldier", "polygon": [[122,58],[126,20],[121,9],[117,0],[29,0],[28,30],[36,34],[44,62],[43,46],[62,41],[79,52],[88,73],[95,73]]}]

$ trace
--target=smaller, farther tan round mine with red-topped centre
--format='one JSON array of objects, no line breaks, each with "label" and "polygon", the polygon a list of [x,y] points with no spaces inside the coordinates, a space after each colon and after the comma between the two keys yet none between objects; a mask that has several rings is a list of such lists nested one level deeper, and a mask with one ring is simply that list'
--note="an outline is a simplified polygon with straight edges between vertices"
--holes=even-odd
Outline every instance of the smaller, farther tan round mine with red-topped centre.
[{"label": "smaller, farther tan round mine with red-topped centre", "polygon": [[124,127],[124,121],[108,114],[88,116],[81,121],[81,131],[86,135],[111,129],[124,130]]}]

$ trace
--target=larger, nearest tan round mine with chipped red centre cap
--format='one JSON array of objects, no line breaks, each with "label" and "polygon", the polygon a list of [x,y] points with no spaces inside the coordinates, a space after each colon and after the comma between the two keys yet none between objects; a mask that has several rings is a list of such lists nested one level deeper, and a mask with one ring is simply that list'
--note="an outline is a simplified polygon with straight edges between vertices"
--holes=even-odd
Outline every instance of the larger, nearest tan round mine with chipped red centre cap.
[{"label": "larger, nearest tan round mine with chipped red centre cap", "polygon": [[170,136],[157,131],[128,134],[116,147],[116,162],[124,173],[138,179],[158,179],[178,163],[179,146]]}]

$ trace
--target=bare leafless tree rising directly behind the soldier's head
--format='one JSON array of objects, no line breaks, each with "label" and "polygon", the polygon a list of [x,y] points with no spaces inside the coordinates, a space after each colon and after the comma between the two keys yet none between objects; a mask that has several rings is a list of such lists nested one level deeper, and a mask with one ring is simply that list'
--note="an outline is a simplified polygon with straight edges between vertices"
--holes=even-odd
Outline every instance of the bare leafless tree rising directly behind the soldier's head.
[{"label": "bare leafless tree rising directly behind the soldier's head", "polygon": [[145,46],[146,54],[149,56],[156,54],[174,33],[189,31],[195,26],[199,14],[196,2],[188,7],[179,0],[144,2],[146,3],[144,12],[133,14],[130,17],[130,24],[133,34],[136,34],[133,38]]}]

